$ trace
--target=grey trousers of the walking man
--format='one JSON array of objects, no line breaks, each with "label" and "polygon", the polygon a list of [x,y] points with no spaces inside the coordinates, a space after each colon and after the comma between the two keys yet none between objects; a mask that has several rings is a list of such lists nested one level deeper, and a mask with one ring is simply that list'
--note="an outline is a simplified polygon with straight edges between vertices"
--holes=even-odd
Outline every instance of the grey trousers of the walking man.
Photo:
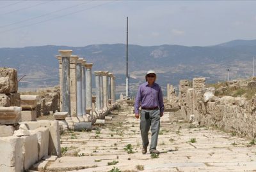
[{"label": "grey trousers of the walking man", "polygon": [[[149,112],[149,118],[145,118],[145,112]],[[156,150],[157,139],[160,129],[160,110],[141,110],[140,133],[143,147],[148,146],[148,131],[151,125],[151,143],[149,150]]]}]

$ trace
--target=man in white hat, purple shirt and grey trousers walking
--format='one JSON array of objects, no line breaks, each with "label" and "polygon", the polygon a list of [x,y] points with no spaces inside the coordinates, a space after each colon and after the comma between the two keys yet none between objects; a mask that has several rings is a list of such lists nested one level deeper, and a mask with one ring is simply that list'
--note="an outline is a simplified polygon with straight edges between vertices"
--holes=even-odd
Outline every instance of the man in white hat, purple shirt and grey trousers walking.
[{"label": "man in white hat, purple shirt and grey trousers walking", "polygon": [[[148,147],[148,131],[151,125],[151,143],[150,154],[159,154],[156,149],[157,139],[160,128],[160,117],[164,114],[163,94],[161,87],[155,82],[156,73],[154,71],[148,71],[145,76],[146,82],[142,83],[138,89],[138,93],[134,103],[135,117],[140,117],[140,131],[142,138],[143,148],[142,154],[147,153]],[[141,116],[139,108],[141,106]]]}]

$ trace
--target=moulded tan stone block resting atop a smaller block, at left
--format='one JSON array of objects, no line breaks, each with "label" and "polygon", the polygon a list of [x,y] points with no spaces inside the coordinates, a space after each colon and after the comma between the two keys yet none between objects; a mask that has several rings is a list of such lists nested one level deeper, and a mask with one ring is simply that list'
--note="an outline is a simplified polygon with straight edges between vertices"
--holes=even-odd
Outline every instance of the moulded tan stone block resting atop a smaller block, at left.
[{"label": "moulded tan stone block resting atop a smaller block, at left", "polygon": [[36,95],[20,95],[20,106],[22,110],[24,109],[35,109],[38,101],[38,96]]}]

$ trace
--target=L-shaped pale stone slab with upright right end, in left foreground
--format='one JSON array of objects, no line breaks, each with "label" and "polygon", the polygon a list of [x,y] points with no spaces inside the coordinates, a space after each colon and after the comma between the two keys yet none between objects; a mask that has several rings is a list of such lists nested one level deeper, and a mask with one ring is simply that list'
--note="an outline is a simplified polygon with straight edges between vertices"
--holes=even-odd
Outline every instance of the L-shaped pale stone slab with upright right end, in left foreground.
[{"label": "L-shaped pale stone slab with upright right end, in left foreground", "polygon": [[37,129],[39,127],[47,127],[49,129],[49,150],[48,155],[61,155],[60,148],[60,127],[58,121],[51,120],[38,120],[36,122],[20,122],[20,124],[26,124],[30,130]]}]

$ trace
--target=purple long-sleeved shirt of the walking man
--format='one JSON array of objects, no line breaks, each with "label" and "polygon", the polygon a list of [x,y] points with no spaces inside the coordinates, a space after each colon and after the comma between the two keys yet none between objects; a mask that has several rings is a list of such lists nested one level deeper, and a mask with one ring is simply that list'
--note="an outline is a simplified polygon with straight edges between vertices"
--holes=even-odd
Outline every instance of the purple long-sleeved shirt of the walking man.
[{"label": "purple long-sleeved shirt of the walking man", "polygon": [[136,114],[139,113],[140,104],[143,108],[159,107],[162,113],[164,111],[164,101],[161,87],[157,83],[154,83],[152,87],[148,85],[148,82],[142,83],[134,103]]}]

